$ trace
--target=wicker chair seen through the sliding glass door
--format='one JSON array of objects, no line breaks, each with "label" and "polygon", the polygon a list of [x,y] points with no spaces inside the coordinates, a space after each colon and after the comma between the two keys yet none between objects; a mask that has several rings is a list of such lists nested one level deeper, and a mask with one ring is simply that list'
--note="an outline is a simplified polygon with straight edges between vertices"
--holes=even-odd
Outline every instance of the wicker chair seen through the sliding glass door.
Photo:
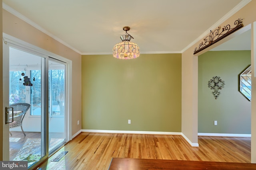
[{"label": "wicker chair seen through the sliding glass door", "polygon": [[[26,112],[30,108],[30,104],[27,104],[27,103],[16,103],[16,104],[10,104],[10,107],[13,107],[13,111],[22,111],[20,114],[18,114],[18,115],[13,117],[14,121],[12,123],[9,123],[10,128],[14,128],[14,127],[19,127],[20,126],[23,134],[26,136],[26,134],[24,133],[23,128],[22,128],[22,121],[24,119],[24,116],[25,116]],[[12,121],[12,118],[10,118],[10,121]],[[10,135],[12,135],[11,132],[10,132]]]}]

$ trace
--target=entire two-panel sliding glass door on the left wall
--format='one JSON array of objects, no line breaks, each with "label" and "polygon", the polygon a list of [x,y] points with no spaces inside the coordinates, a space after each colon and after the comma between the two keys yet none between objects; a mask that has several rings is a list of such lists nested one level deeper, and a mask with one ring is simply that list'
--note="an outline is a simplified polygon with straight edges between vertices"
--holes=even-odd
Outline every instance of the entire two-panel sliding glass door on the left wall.
[{"label": "entire two-panel sliding glass door on the left wall", "polygon": [[[7,109],[4,114],[7,123],[3,159],[27,161],[28,168],[33,169],[70,138],[70,96],[67,94],[70,63],[22,43],[25,42],[10,39],[3,43],[3,105],[17,108]],[[28,107],[26,111],[23,105]]]}]

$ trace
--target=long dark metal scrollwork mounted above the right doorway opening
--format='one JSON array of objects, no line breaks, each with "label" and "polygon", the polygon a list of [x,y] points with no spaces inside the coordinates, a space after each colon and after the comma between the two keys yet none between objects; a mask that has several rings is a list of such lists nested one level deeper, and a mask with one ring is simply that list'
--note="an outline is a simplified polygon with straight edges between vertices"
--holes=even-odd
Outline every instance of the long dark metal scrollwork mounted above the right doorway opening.
[{"label": "long dark metal scrollwork mounted above the right doorway opening", "polygon": [[207,47],[213,45],[214,43],[217,43],[221,39],[242,28],[244,26],[242,22],[242,19],[238,19],[234,22],[234,28],[230,28],[230,25],[228,24],[222,28],[222,31],[220,31],[220,27],[218,27],[218,29],[215,29],[214,31],[210,30],[210,34],[204,38],[204,42],[202,41],[202,43],[199,44],[199,47],[195,48],[194,54],[202,51],[203,49],[206,49]]}]

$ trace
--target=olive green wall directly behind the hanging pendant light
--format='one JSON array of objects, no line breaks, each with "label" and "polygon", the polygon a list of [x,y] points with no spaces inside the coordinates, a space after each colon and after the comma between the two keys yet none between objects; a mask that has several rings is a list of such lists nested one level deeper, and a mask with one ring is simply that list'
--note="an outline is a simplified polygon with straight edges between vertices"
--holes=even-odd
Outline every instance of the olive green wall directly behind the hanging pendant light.
[{"label": "olive green wall directly behind the hanging pendant light", "polygon": [[83,55],[82,129],[181,132],[181,54]]}]

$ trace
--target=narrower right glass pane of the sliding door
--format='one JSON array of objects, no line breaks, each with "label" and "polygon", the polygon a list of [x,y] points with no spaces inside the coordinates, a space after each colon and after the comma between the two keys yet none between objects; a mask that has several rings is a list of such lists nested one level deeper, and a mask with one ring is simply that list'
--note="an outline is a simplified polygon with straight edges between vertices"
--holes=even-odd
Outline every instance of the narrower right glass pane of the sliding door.
[{"label": "narrower right glass pane of the sliding door", "polygon": [[66,65],[49,59],[49,153],[66,141]]}]

